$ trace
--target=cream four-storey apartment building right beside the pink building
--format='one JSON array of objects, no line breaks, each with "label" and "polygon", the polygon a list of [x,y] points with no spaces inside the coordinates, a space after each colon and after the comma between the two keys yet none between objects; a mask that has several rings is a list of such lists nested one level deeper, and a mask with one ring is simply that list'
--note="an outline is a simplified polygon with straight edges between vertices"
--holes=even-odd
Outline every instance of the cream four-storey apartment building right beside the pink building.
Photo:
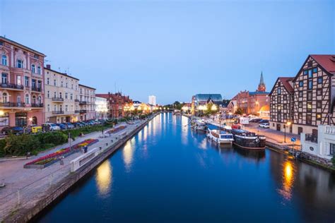
[{"label": "cream four-storey apartment building right beside the pink building", "polygon": [[45,68],[45,121],[52,123],[78,121],[79,79]]}]

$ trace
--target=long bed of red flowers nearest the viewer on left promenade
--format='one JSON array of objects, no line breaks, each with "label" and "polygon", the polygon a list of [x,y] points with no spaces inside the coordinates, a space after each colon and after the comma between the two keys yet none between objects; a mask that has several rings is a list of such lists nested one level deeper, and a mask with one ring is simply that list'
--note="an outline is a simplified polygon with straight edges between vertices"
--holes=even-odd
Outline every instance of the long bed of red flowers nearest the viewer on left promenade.
[{"label": "long bed of red flowers nearest the viewer on left promenade", "polygon": [[80,151],[81,147],[84,147],[86,145],[87,146],[93,145],[94,143],[97,143],[98,141],[99,141],[98,139],[92,139],[92,138],[83,140],[83,142],[73,145],[72,150],[70,147],[62,148],[60,150],[57,150],[56,152],[52,152],[48,155],[45,155],[44,157],[35,159],[32,162],[28,162],[23,167],[24,168],[40,168],[40,169],[45,168],[59,161],[61,157],[67,157],[73,154],[74,152]]}]

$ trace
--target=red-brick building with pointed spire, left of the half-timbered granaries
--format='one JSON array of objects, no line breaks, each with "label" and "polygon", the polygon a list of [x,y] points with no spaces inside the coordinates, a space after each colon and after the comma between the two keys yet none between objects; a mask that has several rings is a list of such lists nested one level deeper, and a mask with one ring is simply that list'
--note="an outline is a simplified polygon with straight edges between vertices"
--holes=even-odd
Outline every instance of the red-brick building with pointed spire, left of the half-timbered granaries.
[{"label": "red-brick building with pointed spire, left of the half-timbered granaries", "polygon": [[[269,92],[266,92],[266,85],[261,73],[261,79],[256,91],[249,92],[247,90],[239,92],[235,97],[237,108],[242,109],[243,114],[259,115],[261,110],[269,108]],[[268,111],[269,113],[269,111]]]}]

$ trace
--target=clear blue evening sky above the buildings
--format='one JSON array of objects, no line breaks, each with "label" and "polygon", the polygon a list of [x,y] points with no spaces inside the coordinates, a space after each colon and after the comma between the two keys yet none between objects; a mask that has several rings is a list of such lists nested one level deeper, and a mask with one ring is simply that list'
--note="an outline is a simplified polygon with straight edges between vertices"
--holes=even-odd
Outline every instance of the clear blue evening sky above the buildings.
[{"label": "clear blue evening sky above the buildings", "polygon": [[[334,1],[0,0],[0,35],[97,92],[189,101],[267,90],[308,54],[335,54]],[[115,88],[116,85],[116,88]]]}]

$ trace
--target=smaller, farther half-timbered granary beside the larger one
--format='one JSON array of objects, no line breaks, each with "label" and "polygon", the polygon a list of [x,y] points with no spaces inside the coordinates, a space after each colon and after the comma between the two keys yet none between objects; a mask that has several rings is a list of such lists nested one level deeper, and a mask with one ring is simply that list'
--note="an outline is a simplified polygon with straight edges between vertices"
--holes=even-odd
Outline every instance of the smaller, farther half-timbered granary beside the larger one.
[{"label": "smaller, farther half-timbered granary beside the larger one", "polygon": [[[278,78],[270,92],[270,128],[292,133],[293,129],[293,80]],[[288,129],[287,129],[288,128]]]}]

